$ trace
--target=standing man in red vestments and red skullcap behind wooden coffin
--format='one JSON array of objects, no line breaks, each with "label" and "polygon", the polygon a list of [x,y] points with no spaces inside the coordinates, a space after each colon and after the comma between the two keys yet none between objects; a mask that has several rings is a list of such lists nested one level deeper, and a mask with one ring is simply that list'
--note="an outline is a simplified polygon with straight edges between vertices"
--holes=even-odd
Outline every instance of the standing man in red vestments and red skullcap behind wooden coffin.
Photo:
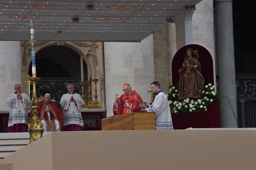
[{"label": "standing man in red vestments and red skullcap behind wooden coffin", "polygon": [[123,85],[124,94],[119,98],[115,98],[115,103],[113,105],[114,115],[123,115],[130,112],[140,112],[140,104],[143,103],[141,96],[132,91],[131,85],[125,83]]}]

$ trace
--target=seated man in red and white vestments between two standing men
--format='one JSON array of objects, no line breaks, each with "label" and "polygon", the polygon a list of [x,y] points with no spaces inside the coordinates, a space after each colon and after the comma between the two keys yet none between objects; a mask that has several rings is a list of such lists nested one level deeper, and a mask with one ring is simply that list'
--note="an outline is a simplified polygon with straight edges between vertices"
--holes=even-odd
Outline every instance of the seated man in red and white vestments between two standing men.
[{"label": "seated man in red and white vestments between two standing men", "polygon": [[[37,116],[43,123],[46,132],[62,131],[63,127],[63,112],[62,109],[53,101],[50,101],[50,94],[45,94],[43,101],[38,102]],[[30,112],[32,118],[33,110]]]}]

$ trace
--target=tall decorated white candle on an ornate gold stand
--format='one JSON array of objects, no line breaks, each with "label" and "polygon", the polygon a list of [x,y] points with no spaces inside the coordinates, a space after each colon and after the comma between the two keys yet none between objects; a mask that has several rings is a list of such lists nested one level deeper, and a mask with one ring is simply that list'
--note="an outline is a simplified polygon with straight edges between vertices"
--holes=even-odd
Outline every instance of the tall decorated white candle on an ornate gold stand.
[{"label": "tall decorated white candle on an ornate gold stand", "polygon": [[32,110],[33,110],[33,118],[29,119],[29,125],[28,125],[28,131],[29,131],[29,138],[31,142],[34,142],[35,140],[39,139],[43,136],[43,124],[41,123],[41,120],[37,116],[38,112],[38,99],[36,95],[36,82],[41,79],[40,77],[36,77],[36,56],[35,56],[35,35],[34,35],[34,28],[35,24],[33,20],[30,20],[30,37],[31,37],[31,55],[32,55],[32,77],[28,77],[29,81],[33,84],[33,94],[32,94]]}]

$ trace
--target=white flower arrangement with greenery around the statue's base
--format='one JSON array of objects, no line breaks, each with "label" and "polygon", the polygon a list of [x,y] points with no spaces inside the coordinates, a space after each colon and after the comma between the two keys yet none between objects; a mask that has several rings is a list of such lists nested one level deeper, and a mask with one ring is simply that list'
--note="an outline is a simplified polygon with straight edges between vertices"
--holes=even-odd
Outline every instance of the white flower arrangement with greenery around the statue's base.
[{"label": "white flower arrangement with greenery around the statue's base", "polygon": [[213,103],[214,99],[218,98],[217,93],[214,90],[214,86],[209,83],[204,86],[204,91],[202,91],[201,99],[189,99],[186,98],[183,101],[177,101],[178,98],[178,90],[173,86],[169,93],[166,95],[168,98],[168,102],[170,105],[170,109],[172,113],[197,113],[206,111],[206,106]]}]

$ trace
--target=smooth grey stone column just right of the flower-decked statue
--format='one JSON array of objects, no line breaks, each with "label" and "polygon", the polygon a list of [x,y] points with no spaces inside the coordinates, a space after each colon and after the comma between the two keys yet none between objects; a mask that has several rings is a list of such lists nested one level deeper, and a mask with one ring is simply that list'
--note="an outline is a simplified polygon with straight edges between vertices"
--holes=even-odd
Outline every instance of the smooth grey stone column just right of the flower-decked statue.
[{"label": "smooth grey stone column just right of the flower-decked statue", "polygon": [[220,126],[237,128],[232,0],[215,0]]}]

